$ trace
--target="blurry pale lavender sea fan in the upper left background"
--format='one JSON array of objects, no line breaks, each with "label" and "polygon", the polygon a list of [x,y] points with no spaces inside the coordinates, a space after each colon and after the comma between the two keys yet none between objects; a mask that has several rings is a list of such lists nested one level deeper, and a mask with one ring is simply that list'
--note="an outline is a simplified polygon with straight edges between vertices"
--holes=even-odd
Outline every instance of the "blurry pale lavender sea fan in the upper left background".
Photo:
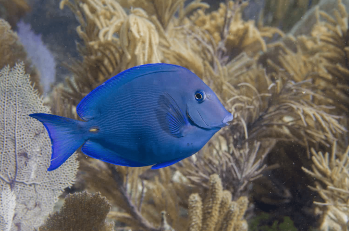
[{"label": "blurry pale lavender sea fan in the upper left background", "polygon": [[28,57],[40,73],[40,82],[43,86],[44,94],[51,89],[51,84],[56,80],[56,61],[50,50],[41,40],[40,35],[36,35],[30,24],[20,21],[17,24],[18,37],[23,47],[26,49]]}]

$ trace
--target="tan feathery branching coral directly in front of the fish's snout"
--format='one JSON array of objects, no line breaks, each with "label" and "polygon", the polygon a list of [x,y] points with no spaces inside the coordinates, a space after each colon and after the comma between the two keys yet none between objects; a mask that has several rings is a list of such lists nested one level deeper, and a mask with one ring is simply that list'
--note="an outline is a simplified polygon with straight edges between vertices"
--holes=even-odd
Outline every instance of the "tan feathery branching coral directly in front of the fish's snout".
[{"label": "tan feathery branching coral directly in front of the fish's snout", "polygon": [[[221,132],[194,157],[197,160],[185,160],[178,167],[199,185],[207,182],[210,174],[219,172],[224,185],[239,197],[247,182],[260,176],[263,159],[276,141],[297,141],[305,147],[309,143],[329,145],[345,131],[339,117],[330,114],[326,98],[316,94],[310,81],[292,81],[281,71],[273,81],[246,56],[221,68],[221,74],[212,69],[209,73],[215,76],[215,90],[235,112],[236,119],[230,129]],[[316,105],[315,98],[327,104]]]}]

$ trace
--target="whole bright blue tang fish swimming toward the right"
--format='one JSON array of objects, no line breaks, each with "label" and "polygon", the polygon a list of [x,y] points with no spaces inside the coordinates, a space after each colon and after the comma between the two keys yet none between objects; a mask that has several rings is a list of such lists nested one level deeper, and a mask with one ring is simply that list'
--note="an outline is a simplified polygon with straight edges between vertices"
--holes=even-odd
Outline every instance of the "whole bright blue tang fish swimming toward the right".
[{"label": "whole bright blue tang fish swimming toward the right", "polygon": [[81,100],[84,121],[36,113],[52,143],[49,171],[80,146],[84,154],[116,165],[166,167],[198,152],[229,113],[190,70],[171,64],[127,69]]}]

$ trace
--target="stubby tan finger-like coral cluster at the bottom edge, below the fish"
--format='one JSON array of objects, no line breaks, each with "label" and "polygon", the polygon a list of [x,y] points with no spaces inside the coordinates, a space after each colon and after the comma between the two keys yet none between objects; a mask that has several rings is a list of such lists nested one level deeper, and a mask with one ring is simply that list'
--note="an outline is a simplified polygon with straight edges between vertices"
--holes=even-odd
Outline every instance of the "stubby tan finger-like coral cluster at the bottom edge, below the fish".
[{"label": "stubby tan finger-like coral cluster at the bottom edge, below the fish", "polygon": [[244,218],[248,206],[246,196],[231,201],[231,193],[223,191],[217,174],[210,176],[209,193],[202,206],[198,193],[189,197],[189,231],[242,231],[248,229]]}]

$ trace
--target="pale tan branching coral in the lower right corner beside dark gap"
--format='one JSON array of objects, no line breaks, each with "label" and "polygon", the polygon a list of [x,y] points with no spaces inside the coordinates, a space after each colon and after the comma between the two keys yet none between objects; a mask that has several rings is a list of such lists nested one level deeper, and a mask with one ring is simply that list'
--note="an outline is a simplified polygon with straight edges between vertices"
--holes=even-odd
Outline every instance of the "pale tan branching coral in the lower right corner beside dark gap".
[{"label": "pale tan branching coral in the lower right corner beside dark gap", "polygon": [[311,170],[302,167],[303,171],[314,177],[315,187],[324,202],[314,204],[324,207],[322,212],[321,230],[347,230],[349,220],[349,146],[346,150],[332,144],[331,154],[316,152],[311,149]]}]

